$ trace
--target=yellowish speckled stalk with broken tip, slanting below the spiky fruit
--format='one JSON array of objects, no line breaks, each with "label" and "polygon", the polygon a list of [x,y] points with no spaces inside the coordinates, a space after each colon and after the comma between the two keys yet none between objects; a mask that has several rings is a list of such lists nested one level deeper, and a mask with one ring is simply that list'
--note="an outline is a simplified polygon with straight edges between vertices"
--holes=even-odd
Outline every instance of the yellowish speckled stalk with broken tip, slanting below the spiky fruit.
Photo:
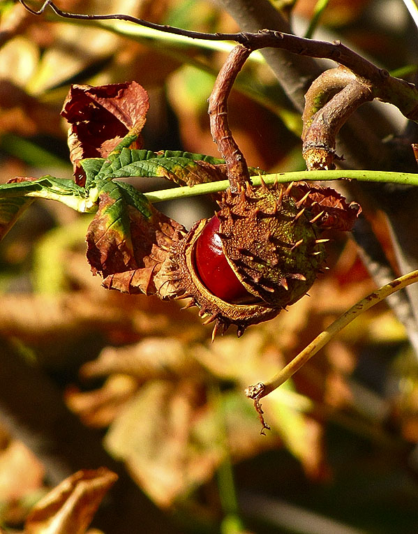
[{"label": "yellowish speckled stalk with broken tip, slanting below the spiky fruit", "polygon": [[406,286],[418,282],[418,270],[412,271],[399,278],[392,280],[391,282],[383,285],[378,290],[372,292],[364,299],[361,299],[357,304],[354,304],[348,311],[345,311],[342,316],[331,323],[327,329],[321,332],[315,339],[309,343],[288,365],[286,365],[276,376],[266,383],[258,383],[246,388],[246,396],[250,399],[260,401],[263,396],[268,395],[277,387],[281,386],[288,380],[296,371],[299,371],[306,362],[308,362],[313,355],[323,348],[331,339],[338,334],[344,327],[346,327],[352,320],[357,318],[361,313],[367,311],[378,302],[392,295],[392,293],[399,291]]}]

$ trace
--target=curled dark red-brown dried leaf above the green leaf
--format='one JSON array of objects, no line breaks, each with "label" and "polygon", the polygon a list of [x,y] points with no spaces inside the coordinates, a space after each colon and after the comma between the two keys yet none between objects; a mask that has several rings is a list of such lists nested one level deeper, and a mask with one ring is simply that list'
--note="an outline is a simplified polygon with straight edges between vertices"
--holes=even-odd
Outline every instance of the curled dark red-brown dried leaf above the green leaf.
[{"label": "curled dark red-brown dried leaf above the green leaf", "polygon": [[[139,136],[149,109],[148,94],[137,82],[98,87],[73,85],[61,115],[68,131],[70,159],[106,158],[128,133]],[[132,148],[140,148],[138,137]]]}]

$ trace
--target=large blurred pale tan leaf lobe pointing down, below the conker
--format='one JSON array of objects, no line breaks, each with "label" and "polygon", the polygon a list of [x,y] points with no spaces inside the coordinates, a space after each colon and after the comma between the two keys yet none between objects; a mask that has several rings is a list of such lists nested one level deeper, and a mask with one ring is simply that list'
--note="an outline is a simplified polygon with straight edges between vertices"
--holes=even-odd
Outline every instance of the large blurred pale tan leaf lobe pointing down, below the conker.
[{"label": "large blurred pale tan leaf lobe pointing down, below the conker", "polygon": [[[199,405],[197,391],[186,381],[148,383],[105,438],[112,454],[124,459],[134,479],[160,506],[170,506],[211,477],[223,454],[219,447],[207,447],[207,434],[195,433],[205,413]],[[212,433],[209,438],[213,443]]]}]

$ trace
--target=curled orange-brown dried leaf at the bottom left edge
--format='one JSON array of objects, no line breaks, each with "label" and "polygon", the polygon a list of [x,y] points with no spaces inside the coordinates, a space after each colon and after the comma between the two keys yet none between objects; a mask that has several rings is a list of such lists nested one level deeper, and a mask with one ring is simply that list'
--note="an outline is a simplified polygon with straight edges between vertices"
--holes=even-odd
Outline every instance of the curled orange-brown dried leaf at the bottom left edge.
[{"label": "curled orange-brown dried leaf at the bottom left edge", "polygon": [[84,534],[117,475],[107,468],[80,470],[66,478],[31,510],[26,534]]}]

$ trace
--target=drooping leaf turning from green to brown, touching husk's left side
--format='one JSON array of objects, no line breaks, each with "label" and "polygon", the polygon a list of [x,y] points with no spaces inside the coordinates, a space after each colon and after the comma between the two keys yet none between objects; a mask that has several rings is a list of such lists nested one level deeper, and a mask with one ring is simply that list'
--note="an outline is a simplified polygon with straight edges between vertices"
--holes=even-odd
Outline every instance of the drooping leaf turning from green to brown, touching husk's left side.
[{"label": "drooping leaf turning from green to brown, touching husk's left side", "polygon": [[98,181],[98,212],[87,231],[87,260],[108,289],[154,295],[156,279],[179,223],[133,186]]}]

